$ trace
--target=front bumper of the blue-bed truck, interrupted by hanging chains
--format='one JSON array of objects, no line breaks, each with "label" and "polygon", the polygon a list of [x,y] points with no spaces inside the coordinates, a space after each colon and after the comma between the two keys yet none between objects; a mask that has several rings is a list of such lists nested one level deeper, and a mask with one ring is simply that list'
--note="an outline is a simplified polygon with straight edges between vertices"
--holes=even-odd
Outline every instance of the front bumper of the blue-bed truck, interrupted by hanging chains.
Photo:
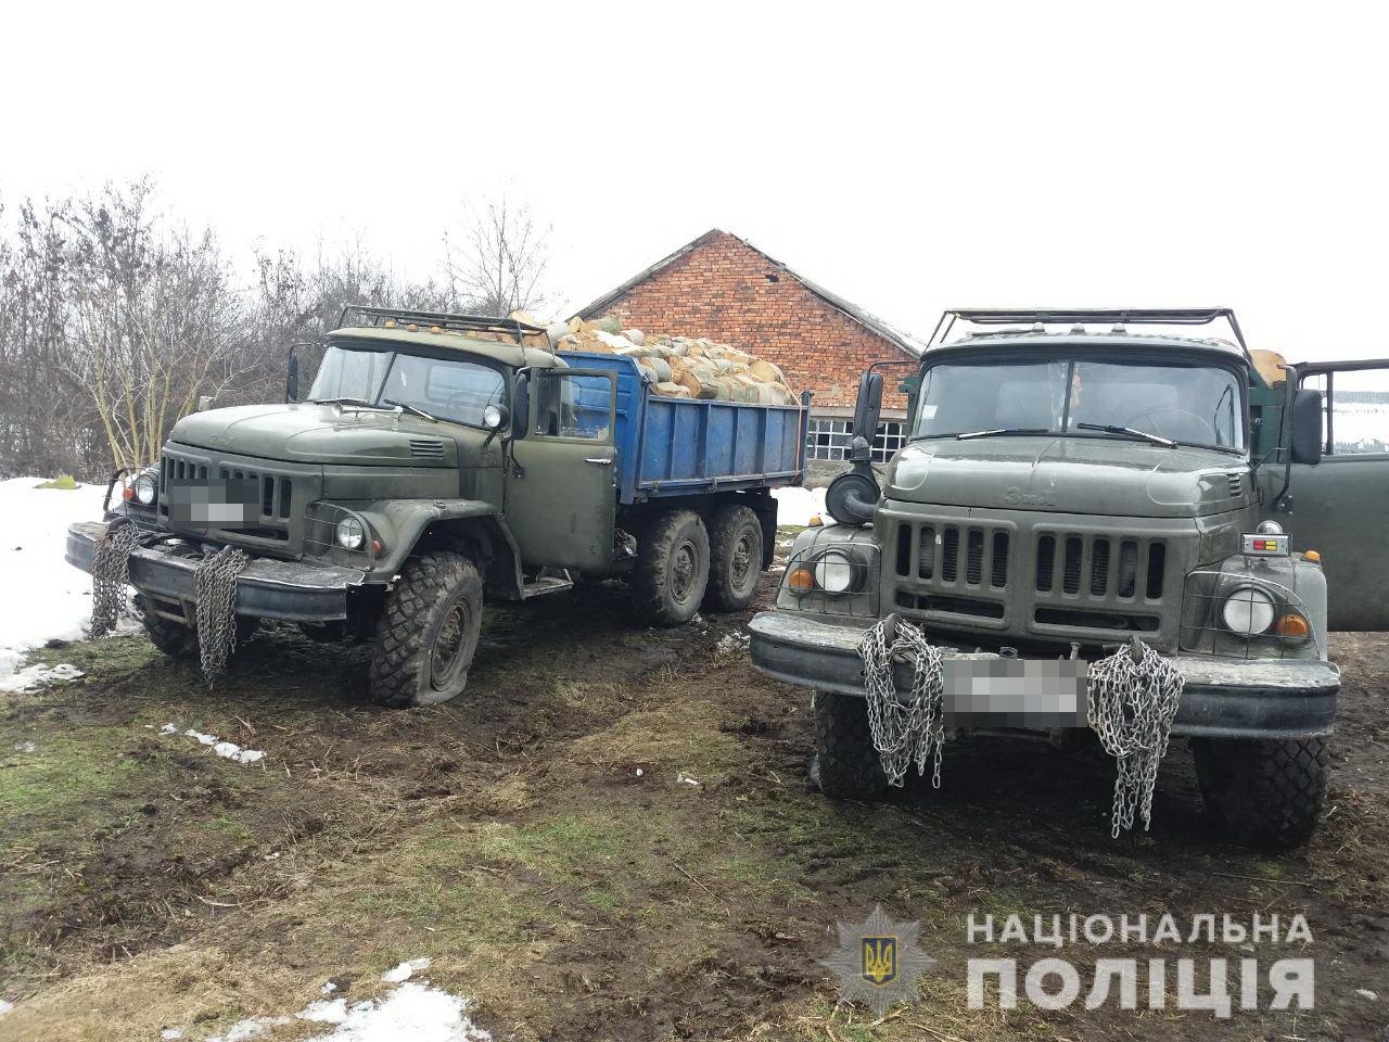
[{"label": "front bumper of the blue-bed truck, interrupted by hanging chains", "polygon": [[[68,527],[68,564],[92,571],[92,554],[106,536],[100,521]],[[197,603],[197,559],[168,549],[140,546],[131,553],[131,585],[140,593],[182,606]],[[347,618],[347,592],[365,574],[336,564],[300,564],[253,557],[236,578],[236,614],[290,622],[333,622]]]}]

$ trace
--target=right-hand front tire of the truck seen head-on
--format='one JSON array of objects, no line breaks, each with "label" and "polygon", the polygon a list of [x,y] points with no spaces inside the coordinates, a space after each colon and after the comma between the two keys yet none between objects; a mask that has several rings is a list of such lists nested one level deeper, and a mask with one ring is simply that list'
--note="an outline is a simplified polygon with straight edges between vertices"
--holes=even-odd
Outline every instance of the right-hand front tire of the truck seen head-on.
[{"label": "right-hand front tire of the truck seen head-on", "polygon": [[1326,802],[1326,741],[1192,739],[1207,810],[1242,843],[1301,846]]}]

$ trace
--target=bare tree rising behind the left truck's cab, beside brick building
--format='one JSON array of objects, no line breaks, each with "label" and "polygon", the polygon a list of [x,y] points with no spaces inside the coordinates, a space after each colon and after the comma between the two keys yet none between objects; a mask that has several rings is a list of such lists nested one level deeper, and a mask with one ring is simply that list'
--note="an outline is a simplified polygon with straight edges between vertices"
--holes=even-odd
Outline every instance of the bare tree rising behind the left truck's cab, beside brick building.
[{"label": "bare tree rising behind the left truck's cab, beside brick building", "polygon": [[499,318],[544,307],[549,238],[531,207],[506,195],[468,206],[461,231],[443,236],[450,295],[469,311]]}]

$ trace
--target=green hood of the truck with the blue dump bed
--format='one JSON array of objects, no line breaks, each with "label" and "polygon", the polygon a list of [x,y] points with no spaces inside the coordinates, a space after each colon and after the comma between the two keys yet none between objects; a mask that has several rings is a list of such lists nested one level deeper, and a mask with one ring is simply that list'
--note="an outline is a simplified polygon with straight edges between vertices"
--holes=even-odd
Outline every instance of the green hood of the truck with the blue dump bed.
[{"label": "green hood of the truck with the blue dump bed", "polygon": [[[410,414],[301,403],[193,413],[174,425],[169,439],[267,460],[456,467],[454,433],[453,424],[435,424]],[[479,442],[481,438],[478,432]]]}]

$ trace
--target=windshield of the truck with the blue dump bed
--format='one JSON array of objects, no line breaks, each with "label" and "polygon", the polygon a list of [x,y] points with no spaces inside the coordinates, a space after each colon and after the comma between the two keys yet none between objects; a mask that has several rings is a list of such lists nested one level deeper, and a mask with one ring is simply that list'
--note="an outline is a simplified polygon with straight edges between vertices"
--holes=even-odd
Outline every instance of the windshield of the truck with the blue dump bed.
[{"label": "windshield of the truck with the blue dump bed", "polygon": [[346,399],[381,408],[400,404],[439,420],[483,427],[482,410],[504,402],[506,392],[501,372],[481,363],[333,345],[308,400]]}]

